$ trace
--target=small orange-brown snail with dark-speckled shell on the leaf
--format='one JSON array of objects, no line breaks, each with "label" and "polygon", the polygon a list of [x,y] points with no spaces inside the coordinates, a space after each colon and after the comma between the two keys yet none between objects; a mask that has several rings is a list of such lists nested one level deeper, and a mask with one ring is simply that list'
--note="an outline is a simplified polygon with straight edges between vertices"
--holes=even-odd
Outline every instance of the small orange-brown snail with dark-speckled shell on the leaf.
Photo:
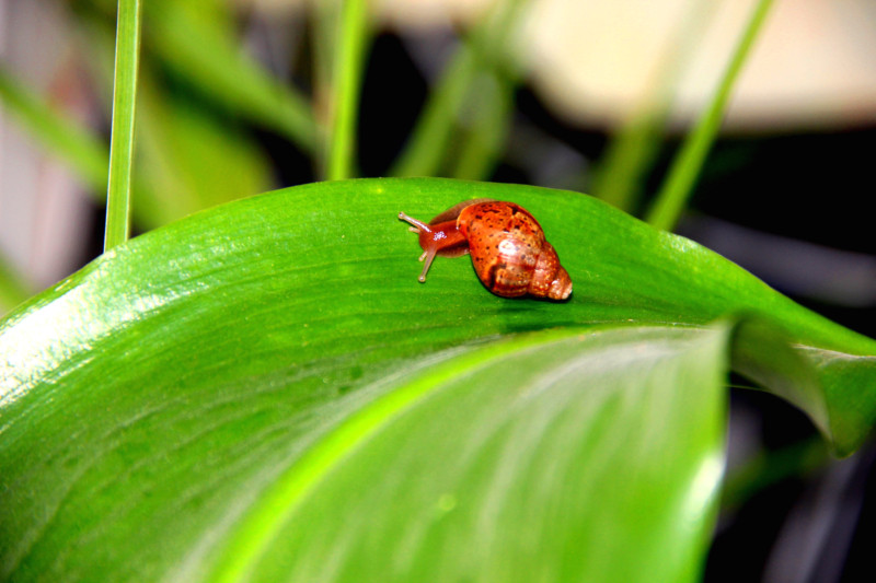
[{"label": "small orange-brown snail with dark-speckled shell on the leaf", "polygon": [[572,293],[572,279],[556,250],[544,240],[535,218],[519,205],[482,198],[460,202],[428,223],[404,212],[399,219],[419,234],[419,260],[426,261],[420,282],[436,255],[470,253],[481,282],[496,295],[565,300]]}]

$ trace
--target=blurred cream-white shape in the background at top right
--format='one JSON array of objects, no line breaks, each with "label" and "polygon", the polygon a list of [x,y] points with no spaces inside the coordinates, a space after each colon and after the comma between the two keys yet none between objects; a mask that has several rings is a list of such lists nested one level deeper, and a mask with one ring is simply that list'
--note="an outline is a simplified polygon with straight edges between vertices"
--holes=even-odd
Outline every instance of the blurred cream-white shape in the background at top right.
[{"label": "blurred cream-white shape in the background at top right", "polygon": [[[238,1],[263,10],[307,4]],[[529,0],[515,46],[549,106],[590,126],[613,127],[625,119],[666,68],[664,60],[681,61],[671,119],[683,127],[714,90],[756,2]],[[380,23],[417,30],[472,25],[492,4],[372,0]],[[705,18],[701,25],[685,25],[698,13]],[[874,31],[874,0],[775,0],[734,89],[726,127],[747,131],[872,124]]]}]

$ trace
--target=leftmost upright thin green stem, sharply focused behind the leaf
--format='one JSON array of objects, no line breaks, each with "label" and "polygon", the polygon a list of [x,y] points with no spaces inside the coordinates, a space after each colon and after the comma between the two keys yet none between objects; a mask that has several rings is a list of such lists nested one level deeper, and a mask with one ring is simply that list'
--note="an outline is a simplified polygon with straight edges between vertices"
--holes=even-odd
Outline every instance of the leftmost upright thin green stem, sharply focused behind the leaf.
[{"label": "leftmost upright thin green stem, sharply focused behind the leaf", "polygon": [[139,45],[140,0],[119,0],[104,252],[127,241],[130,233],[130,170]]}]

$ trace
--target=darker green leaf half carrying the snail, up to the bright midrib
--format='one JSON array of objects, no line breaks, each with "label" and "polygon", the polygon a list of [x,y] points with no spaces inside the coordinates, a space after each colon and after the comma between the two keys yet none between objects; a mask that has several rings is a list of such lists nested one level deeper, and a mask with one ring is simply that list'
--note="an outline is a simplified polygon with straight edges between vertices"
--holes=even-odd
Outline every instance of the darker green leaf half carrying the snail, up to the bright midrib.
[{"label": "darker green leaf half carrying the snail, up to the bright midrib", "polygon": [[[479,197],[515,200],[539,218],[575,281],[570,301],[493,296],[464,258],[439,259],[427,283],[416,281],[419,250],[397,212],[428,219]],[[308,456],[338,432],[343,438],[357,415],[379,409],[381,395],[403,394],[413,369],[447,358],[429,357],[436,351],[590,324],[699,328],[726,314],[758,315],[736,328],[734,366],[803,407],[839,452],[856,447],[874,419],[872,340],[707,249],[589,197],[372,179],[290,188],[193,215],[119,245],[0,322],[0,579],[191,580],[186,574],[228,559],[220,551],[227,543],[240,548],[233,541],[241,525],[265,515],[265,497]],[[577,358],[587,357],[569,353],[567,362]],[[499,370],[511,365],[502,362]],[[557,366],[532,373],[562,372]],[[436,386],[443,387],[436,399],[464,397],[451,377]],[[485,383],[471,389],[486,392],[487,400],[508,397]],[[430,418],[418,411],[410,419]],[[450,441],[473,436],[454,424],[446,430]],[[330,485],[365,477],[362,462],[389,459],[367,454],[389,438],[370,439],[350,457],[358,464],[325,468],[321,504],[338,500],[332,497],[341,490]],[[705,455],[704,443],[691,446]],[[387,476],[397,477],[391,467]],[[681,474],[690,485],[690,474]],[[381,487],[381,495],[396,486]],[[671,486],[683,489],[681,481]],[[284,514],[278,532],[295,530],[306,510]],[[273,548],[264,547],[265,557]],[[350,564],[368,568],[355,558],[361,548],[337,548],[350,549]],[[252,572],[268,576],[277,564],[256,562]]]}]

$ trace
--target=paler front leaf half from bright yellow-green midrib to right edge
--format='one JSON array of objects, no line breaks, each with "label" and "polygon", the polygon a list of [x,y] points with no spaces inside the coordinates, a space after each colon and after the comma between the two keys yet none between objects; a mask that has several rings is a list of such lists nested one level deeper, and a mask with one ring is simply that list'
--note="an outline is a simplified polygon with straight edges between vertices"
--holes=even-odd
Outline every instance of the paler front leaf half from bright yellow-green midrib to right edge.
[{"label": "paler front leaf half from bright yellow-green midrib to right edge", "polygon": [[277,478],[215,579],[693,581],[726,331],[527,335],[405,377]]}]

